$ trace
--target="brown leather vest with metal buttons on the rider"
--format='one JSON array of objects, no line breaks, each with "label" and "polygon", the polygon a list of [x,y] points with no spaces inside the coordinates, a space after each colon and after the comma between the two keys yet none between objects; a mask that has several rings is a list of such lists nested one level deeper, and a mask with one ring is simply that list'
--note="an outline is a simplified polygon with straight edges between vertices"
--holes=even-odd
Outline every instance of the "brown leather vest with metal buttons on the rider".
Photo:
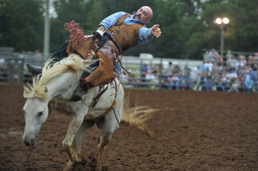
[{"label": "brown leather vest with metal buttons on the rider", "polygon": [[130,16],[131,14],[121,16],[117,23],[106,31],[112,34],[113,40],[121,47],[123,52],[137,45],[138,32],[140,28],[145,27],[145,25],[140,23],[125,25],[124,18]]}]

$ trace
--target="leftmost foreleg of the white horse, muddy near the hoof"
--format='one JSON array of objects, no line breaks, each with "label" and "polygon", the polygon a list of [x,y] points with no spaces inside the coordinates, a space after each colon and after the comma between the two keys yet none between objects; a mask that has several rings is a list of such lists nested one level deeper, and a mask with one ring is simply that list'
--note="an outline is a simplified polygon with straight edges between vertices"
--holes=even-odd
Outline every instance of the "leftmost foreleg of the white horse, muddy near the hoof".
[{"label": "leftmost foreleg of the white horse, muddy near the hoof", "polygon": [[82,158],[78,156],[78,154],[72,149],[72,143],[76,132],[79,130],[83,122],[84,113],[87,113],[87,111],[83,113],[75,113],[73,116],[71,116],[68,131],[66,133],[65,139],[63,140],[63,149],[68,153],[70,160],[72,162],[78,162],[82,164],[86,164],[86,161],[81,161]]}]

